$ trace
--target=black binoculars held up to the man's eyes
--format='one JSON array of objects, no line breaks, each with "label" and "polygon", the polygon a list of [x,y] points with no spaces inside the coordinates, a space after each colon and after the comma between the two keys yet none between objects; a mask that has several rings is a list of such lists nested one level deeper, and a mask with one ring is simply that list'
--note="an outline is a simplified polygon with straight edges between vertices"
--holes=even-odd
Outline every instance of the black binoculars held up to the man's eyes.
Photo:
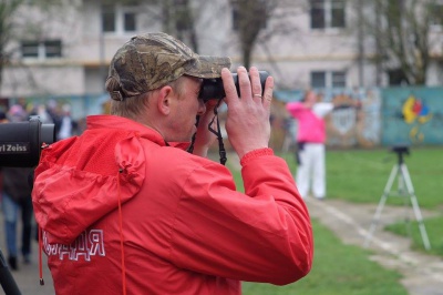
[{"label": "black binoculars held up to the man's eyes", "polygon": [[[265,90],[265,82],[266,79],[269,77],[269,73],[266,71],[259,71],[258,72],[260,75],[260,83],[261,83],[261,91]],[[234,83],[237,89],[237,94],[240,95],[240,88],[238,85],[238,74],[233,73],[233,79]],[[204,102],[207,102],[209,100],[219,100],[226,96],[225,89],[223,88],[223,81],[222,78],[216,78],[216,79],[204,79],[200,93],[199,93],[199,99],[202,99]]]}]

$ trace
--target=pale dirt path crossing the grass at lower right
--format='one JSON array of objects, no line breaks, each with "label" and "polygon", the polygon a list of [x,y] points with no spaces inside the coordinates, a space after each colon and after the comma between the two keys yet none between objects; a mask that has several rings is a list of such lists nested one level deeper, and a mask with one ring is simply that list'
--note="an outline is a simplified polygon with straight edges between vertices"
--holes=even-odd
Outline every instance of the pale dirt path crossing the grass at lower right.
[{"label": "pale dirt path crossing the grass at lower right", "polygon": [[[343,201],[318,201],[307,199],[313,218],[333,231],[343,243],[364,246],[377,205],[351,204]],[[410,250],[410,238],[400,237],[383,231],[384,224],[404,221],[404,207],[385,206],[382,211],[368,248],[373,251],[371,260],[382,266],[403,274],[401,283],[411,295],[443,295],[443,260]],[[424,217],[432,212],[422,210]],[[411,213],[411,220],[414,214]]]}]

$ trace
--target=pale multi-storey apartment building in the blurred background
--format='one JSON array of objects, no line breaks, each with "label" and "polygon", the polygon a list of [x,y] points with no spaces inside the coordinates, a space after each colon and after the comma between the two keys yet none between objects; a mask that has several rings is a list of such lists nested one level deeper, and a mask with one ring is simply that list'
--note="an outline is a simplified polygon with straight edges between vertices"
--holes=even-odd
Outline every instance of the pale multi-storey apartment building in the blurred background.
[{"label": "pale multi-storey apartment building in the blurred background", "polygon": [[[11,50],[11,63],[3,70],[0,96],[103,94],[107,67],[117,48],[136,33],[165,30],[164,8],[144,1],[138,6],[102,6],[99,0],[68,2],[70,6],[51,11],[23,6],[17,13],[23,28],[7,47],[16,50]],[[236,28],[238,11],[233,6],[236,1],[164,2],[172,3],[175,11],[190,3],[193,35],[200,54],[229,55],[233,70],[243,64]],[[262,17],[251,64],[269,71],[277,81],[277,90],[353,89],[392,83],[390,73],[373,62],[377,40],[360,30],[361,13],[368,13],[358,9],[363,1],[269,2],[275,4],[274,14]],[[27,27],[25,20],[33,20],[34,27]],[[189,43],[188,28],[181,28],[177,21],[167,28]],[[443,82],[441,26],[435,26],[431,33],[437,42],[430,49],[426,83],[439,85]]]}]

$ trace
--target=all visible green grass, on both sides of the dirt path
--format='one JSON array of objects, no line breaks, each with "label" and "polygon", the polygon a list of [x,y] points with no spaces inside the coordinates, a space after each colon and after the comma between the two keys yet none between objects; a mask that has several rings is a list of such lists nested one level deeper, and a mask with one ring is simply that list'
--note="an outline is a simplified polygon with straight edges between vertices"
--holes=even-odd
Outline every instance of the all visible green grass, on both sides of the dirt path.
[{"label": "all visible green grass, on both sides of the dirt path", "polygon": [[[292,153],[280,154],[292,173],[297,164]],[[411,149],[404,157],[415,195],[422,210],[436,212],[424,224],[431,241],[430,253],[443,256],[443,148]],[[349,150],[327,152],[328,197],[354,203],[378,204],[392,167],[398,163],[395,153],[385,150]],[[229,165],[229,161],[228,161]],[[237,187],[243,190],[239,171],[231,169]],[[394,182],[388,197],[389,205],[404,205],[409,196],[393,196]],[[414,217],[412,215],[412,217]],[[315,262],[310,274],[293,284],[278,287],[268,284],[245,283],[244,294],[408,294],[399,283],[401,276],[370,261],[371,253],[342,244],[332,232],[312,221]],[[413,248],[422,250],[423,242],[416,222],[399,222],[387,227],[399,235],[411,236]]]}]

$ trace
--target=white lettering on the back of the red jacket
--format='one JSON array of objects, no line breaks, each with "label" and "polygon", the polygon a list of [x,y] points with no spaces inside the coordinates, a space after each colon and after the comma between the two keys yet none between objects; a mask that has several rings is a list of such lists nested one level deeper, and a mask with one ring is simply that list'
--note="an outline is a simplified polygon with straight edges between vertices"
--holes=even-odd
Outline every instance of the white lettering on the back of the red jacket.
[{"label": "white lettering on the back of the red jacket", "polygon": [[91,256],[106,256],[103,230],[84,231],[70,245],[50,244],[48,235],[49,233],[43,231],[43,250],[48,256],[58,255],[61,261],[79,261],[83,257],[85,262],[90,262]]}]

